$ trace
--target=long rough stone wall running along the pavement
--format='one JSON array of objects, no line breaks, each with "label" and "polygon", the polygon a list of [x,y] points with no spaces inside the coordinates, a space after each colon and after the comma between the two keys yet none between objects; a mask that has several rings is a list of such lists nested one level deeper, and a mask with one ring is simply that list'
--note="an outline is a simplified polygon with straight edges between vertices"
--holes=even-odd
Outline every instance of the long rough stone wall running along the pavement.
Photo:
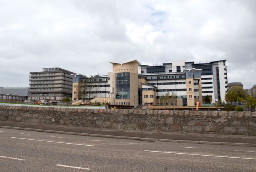
[{"label": "long rough stone wall running along the pavement", "polygon": [[256,112],[0,106],[0,120],[108,129],[256,135]]}]

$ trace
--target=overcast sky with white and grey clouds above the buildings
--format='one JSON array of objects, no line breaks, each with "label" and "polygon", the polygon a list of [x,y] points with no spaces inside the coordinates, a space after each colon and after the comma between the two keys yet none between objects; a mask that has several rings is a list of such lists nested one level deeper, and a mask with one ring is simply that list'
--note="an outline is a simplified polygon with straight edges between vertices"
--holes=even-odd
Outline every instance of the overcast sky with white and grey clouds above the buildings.
[{"label": "overcast sky with white and grey clouds above the buildings", "polygon": [[0,0],[0,87],[60,67],[107,75],[143,65],[226,59],[228,83],[256,85],[256,0]]}]

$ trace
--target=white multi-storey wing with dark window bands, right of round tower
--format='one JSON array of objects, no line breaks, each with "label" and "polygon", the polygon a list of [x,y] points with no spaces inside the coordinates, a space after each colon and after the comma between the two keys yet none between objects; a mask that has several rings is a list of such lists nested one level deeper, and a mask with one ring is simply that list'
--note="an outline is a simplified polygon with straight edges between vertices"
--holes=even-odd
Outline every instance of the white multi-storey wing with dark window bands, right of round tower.
[{"label": "white multi-storey wing with dark window bands, right of round tower", "polygon": [[[191,96],[189,97],[185,92],[190,91],[190,88],[187,87],[189,84],[187,79],[193,76],[194,79],[198,80],[199,85],[198,89],[194,88],[196,96],[194,102],[201,101],[199,100],[199,97],[201,97],[199,89],[202,89],[202,99],[208,95],[212,103],[214,103],[218,99],[224,101],[225,94],[228,91],[227,67],[225,62],[226,60],[212,61],[210,63],[172,61],[172,63],[163,63],[163,65],[158,66],[141,65],[139,77],[146,76],[150,80],[148,84],[158,85],[156,86],[158,87],[158,98],[159,96],[165,95],[167,91],[172,91],[177,97],[180,98],[181,96],[184,98],[183,102],[186,102],[185,99],[188,98],[187,104],[189,105],[190,101],[192,101],[192,104],[194,103],[190,98]],[[199,76],[198,73],[196,75],[187,73],[191,69],[194,69],[194,71],[201,70],[201,75]],[[197,82],[194,81],[194,85],[196,84]],[[197,90],[199,91],[198,93],[196,93]],[[182,91],[184,92],[182,93]]]}]

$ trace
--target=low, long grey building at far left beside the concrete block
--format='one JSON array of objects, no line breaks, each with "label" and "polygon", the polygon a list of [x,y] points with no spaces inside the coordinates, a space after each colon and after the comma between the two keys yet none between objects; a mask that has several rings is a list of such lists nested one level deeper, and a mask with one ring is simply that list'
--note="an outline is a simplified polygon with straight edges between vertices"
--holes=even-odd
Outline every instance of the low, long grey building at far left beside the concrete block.
[{"label": "low, long grey building at far left beside the concrete block", "polygon": [[0,87],[0,101],[19,102],[28,100],[28,87]]}]

